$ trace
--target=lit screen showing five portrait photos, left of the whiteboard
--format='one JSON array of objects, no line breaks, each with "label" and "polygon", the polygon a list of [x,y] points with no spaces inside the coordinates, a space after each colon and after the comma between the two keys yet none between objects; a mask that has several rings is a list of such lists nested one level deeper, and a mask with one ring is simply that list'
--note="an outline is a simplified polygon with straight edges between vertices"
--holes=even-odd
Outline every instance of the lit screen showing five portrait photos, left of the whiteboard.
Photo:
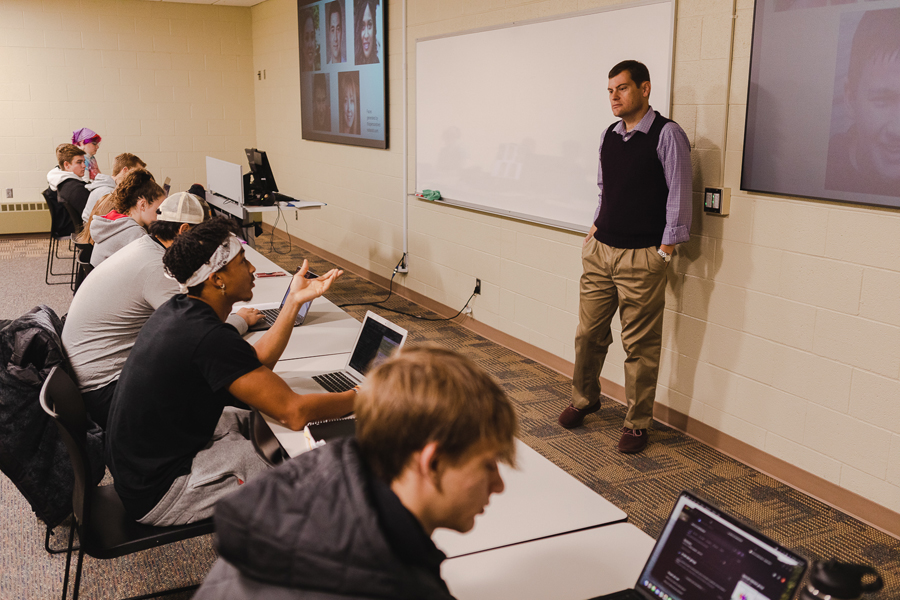
[{"label": "lit screen showing five portrait photos, left of the whiteboard", "polygon": [[298,0],[303,139],[387,148],[386,0]]}]

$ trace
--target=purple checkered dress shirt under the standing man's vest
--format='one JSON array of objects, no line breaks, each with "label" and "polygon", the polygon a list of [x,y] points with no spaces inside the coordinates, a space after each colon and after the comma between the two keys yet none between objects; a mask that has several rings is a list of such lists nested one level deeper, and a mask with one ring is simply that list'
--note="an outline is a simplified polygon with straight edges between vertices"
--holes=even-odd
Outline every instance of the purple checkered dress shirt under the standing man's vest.
[{"label": "purple checkered dress shirt under the standing man's vest", "polygon": [[[618,133],[627,142],[635,131],[647,133],[656,113],[653,107],[647,111],[641,122],[631,131],[625,131],[625,122],[619,121],[613,128],[613,133]],[[604,135],[605,135],[604,131]],[[600,138],[600,150],[603,149],[603,138]],[[678,123],[670,122],[659,132],[659,145],[656,147],[656,155],[663,165],[666,174],[666,185],[669,186],[669,200],[666,202],[666,228],[663,231],[662,243],[674,246],[688,241],[691,235],[691,143],[687,134]],[[598,151],[599,156],[599,151]],[[600,205],[603,203],[603,169],[597,168],[597,187],[600,195],[597,200],[597,210],[594,211],[594,222],[600,214]]]}]

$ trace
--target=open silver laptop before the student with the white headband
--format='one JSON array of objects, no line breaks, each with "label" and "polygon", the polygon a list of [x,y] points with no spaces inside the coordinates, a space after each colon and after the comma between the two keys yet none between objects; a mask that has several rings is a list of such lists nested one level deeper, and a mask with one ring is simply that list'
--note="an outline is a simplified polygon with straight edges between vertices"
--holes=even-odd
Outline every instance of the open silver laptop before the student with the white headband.
[{"label": "open silver laptop before the student with the white headband", "polygon": [[402,327],[368,311],[359,328],[347,365],[340,371],[313,375],[313,381],[329,392],[351,390],[365,380],[370,369],[402,348],[407,335],[408,332]]}]

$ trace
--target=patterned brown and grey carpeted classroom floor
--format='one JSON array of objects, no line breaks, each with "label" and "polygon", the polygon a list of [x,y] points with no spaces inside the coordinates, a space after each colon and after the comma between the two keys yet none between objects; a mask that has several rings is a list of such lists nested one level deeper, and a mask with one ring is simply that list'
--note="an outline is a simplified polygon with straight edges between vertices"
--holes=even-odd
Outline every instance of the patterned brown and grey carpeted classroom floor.
[{"label": "patterned brown and grey carpeted classroom floor", "polygon": [[[288,270],[296,268],[303,258],[309,259],[316,272],[334,266],[296,245],[289,248],[282,235],[272,241],[265,234],[258,240],[257,248]],[[34,246],[33,241],[0,237],[0,275],[12,268],[9,262],[17,252],[30,246]],[[43,248],[46,253],[46,245]],[[33,287],[29,287],[38,290],[34,292],[37,296],[30,296],[31,305],[42,298],[36,283],[43,285],[42,277],[43,265],[33,276]],[[44,288],[43,298],[47,297],[47,289]],[[56,296],[56,291],[52,294]],[[30,308],[26,306],[11,315],[9,310],[18,300],[8,301],[9,295],[9,287],[4,286],[0,318],[13,318]],[[372,302],[386,295],[384,288],[345,273],[328,298],[345,304]],[[56,309],[57,303],[55,300],[51,306]],[[438,317],[398,296],[386,306]],[[453,322],[421,321],[370,306],[346,307],[360,320],[370,309],[407,328],[407,343],[430,342],[450,347],[485,368],[513,399],[521,439],[616,504],[628,513],[629,522],[649,535],[659,534],[681,490],[691,490],[810,559],[827,557],[874,565],[884,577],[885,589],[865,597],[900,597],[900,540],[661,424],[654,425],[651,445],[644,453],[619,454],[615,445],[625,413],[622,405],[607,399],[599,413],[586,419],[584,427],[567,431],[556,424],[556,417],[569,403],[571,380]],[[50,557],[44,552],[41,524],[5,476],[0,476],[0,499],[0,599],[45,598],[58,593],[65,558]],[[57,544],[62,537],[58,539]],[[86,558],[82,590],[86,598],[112,598],[184,585],[202,577],[213,560],[209,538],[119,561]]]}]

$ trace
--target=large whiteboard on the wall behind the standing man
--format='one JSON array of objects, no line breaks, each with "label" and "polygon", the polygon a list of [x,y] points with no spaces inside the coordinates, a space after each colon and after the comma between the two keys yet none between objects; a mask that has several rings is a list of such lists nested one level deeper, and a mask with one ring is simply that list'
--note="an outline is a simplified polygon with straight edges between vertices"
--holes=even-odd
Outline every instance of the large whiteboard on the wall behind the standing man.
[{"label": "large whiteboard on the wall behind the standing man", "polygon": [[616,119],[607,74],[635,59],[669,116],[674,2],[416,41],[416,189],[443,202],[587,231],[597,148]]}]

